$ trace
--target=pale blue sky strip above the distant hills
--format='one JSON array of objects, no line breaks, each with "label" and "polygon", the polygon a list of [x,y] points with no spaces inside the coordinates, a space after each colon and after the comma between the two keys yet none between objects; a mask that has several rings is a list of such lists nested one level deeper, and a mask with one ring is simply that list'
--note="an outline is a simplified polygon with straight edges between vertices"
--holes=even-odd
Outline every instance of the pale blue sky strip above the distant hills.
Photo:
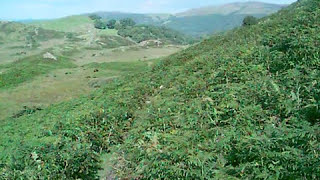
[{"label": "pale blue sky strip above the distant hills", "polygon": [[[95,11],[175,13],[206,5],[248,0],[0,0],[0,19],[49,19]],[[295,0],[260,0],[289,4]]]}]

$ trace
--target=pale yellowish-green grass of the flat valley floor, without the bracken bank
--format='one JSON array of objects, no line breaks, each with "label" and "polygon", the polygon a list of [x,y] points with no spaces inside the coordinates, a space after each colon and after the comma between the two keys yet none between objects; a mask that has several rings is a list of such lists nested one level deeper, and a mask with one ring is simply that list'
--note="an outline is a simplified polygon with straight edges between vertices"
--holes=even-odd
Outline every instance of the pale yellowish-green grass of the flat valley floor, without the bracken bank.
[{"label": "pale yellowish-green grass of the flat valley floor, without the bracken bank", "polygon": [[[156,59],[173,54],[183,48],[185,47],[129,46],[76,51],[69,55],[75,67],[56,69],[14,88],[0,89],[0,120],[23,110],[24,106],[45,108],[51,104],[89,94],[97,87],[103,86],[108,79],[130,72],[139,72],[150,66]],[[42,49],[31,53],[36,54],[41,51],[45,52]],[[11,51],[12,53],[13,51]],[[4,64],[10,64],[10,62],[2,61]],[[95,63],[106,64],[104,68],[99,68],[97,64],[91,66]],[[5,73],[5,70],[8,69],[0,69],[0,72]]]}]

